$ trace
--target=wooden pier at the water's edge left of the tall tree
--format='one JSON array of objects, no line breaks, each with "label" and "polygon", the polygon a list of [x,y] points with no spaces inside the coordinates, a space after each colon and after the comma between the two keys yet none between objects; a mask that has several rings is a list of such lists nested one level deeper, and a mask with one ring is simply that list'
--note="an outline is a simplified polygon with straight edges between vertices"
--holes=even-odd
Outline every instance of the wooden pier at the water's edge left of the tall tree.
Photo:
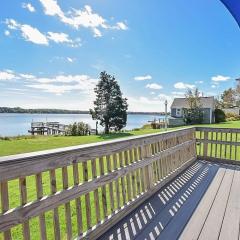
[{"label": "wooden pier at the water's edge left of the tall tree", "polygon": [[59,122],[32,122],[28,132],[32,135],[64,135],[66,125]]}]

